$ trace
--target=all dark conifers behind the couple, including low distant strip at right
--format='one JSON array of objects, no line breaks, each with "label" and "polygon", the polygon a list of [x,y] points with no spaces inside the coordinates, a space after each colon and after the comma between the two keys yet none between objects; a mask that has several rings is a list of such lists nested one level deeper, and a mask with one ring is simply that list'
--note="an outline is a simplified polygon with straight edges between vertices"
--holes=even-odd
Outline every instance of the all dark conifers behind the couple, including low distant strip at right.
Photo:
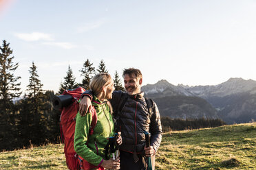
[{"label": "all dark conifers behind the couple, including low distant strip at right", "polygon": [[[82,69],[79,70],[83,77],[81,83],[76,82],[76,77],[71,67],[68,66],[67,75],[61,82],[57,93],[52,90],[43,90],[43,83],[39,79],[36,64],[32,62],[28,70],[30,73],[28,86],[21,97],[21,82],[19,82],[21,77],[15,75],[19,63],[13,62],[14,56],[9,46],[10,43],[6,40],[3,40],[0,45],[0,151],[49,142],[59,143],[61,141],[59,126],[61,112],[53,110],[54,95],[61,95],[64,90],[78,86],[85,90],[89,89],[89,82],[94,75],[108,72],[104,61],[101,60],[96,69],[87,59]],[[114,75],[114,86],[116,90],[125,90],[117,71]],[[189,121],[162,118],[164,131],[214,127],[213,125],[223,125],[223,123],[221,121],[212,123],[211,120],[203,119]]]}]

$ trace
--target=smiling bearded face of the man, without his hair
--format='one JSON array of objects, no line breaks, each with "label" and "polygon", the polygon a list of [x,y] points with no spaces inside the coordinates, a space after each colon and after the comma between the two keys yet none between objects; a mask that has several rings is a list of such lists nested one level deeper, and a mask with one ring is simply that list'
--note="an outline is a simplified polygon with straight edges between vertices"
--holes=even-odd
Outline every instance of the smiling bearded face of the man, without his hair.
[{"label": "smiling bearded face of the man, without his hair", "polygon": [[134,75],[129,76],[128,74],[124,77],[125,89],[129,95],[135,95],[140,93],[142,84],[142,78],[136,78]]}]

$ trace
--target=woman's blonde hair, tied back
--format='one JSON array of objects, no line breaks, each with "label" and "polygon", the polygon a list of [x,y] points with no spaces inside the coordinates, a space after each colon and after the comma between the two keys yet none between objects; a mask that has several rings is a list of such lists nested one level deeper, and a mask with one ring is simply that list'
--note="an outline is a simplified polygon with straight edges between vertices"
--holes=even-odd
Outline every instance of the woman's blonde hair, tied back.
[{"label": "woman's blonde hair, tied back", "polygon": [[[94,95],[99,95],[102,92],[103,86],[110,84],[111,75],[109,73],[98,73],[89,83],[89,88],[93,91]],[[105,94],[106,95],[106,94]]]}]

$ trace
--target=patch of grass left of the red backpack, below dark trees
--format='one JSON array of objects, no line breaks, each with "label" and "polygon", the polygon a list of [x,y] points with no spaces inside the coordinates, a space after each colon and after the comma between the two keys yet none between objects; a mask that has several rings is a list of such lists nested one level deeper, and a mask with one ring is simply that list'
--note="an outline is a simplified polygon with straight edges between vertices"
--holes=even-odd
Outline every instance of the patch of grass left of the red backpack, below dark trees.
[{"label": "patch of grass left of the red backpack, below dark trees", "polygon": [[0,169],[67,169],[64,145],[45,145],[0,153]]}]

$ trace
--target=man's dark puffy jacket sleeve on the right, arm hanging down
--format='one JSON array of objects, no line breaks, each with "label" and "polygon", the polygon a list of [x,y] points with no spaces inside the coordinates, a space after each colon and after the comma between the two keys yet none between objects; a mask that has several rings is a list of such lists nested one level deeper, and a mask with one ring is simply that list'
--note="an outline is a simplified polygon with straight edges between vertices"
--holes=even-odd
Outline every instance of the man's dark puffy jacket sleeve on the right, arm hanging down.
[{"label": "man's dark puffy jacket sleeve on the right, arm hanging down", "polygon": [[156,106],[155,102],[153,102],[153,114],[151,116],[149,132],[151,133],[151,146],[153,146],[153,149],[155,149],[155,151],[158,151],[158,147],[160,146],[160,143],[162,141],[162,125],[158,106]]}]

